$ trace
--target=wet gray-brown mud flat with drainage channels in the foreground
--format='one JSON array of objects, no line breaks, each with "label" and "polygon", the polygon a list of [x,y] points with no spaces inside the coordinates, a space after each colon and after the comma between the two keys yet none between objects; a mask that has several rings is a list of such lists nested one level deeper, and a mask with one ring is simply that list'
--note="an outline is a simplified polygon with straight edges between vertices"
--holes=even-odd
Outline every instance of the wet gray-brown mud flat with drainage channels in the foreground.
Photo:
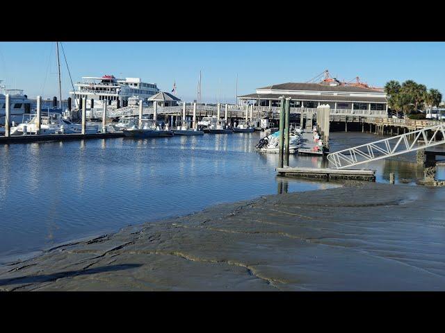
[{"label": "wet gray-brown mud flat with drainage channels in the foreground", "polygon": [[0,290],[445,290],[444,198],[357,182],[218,205],[1,266]]}]

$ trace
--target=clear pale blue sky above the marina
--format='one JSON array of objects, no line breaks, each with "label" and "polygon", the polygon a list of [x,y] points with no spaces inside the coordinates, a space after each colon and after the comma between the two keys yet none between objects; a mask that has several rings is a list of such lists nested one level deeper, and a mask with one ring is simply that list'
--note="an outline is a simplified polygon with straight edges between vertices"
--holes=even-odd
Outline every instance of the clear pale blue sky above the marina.
[{"label": "clear pale blue sky above the marina", "polygon": [[[325,69],[382,87],[412,79],[445,96],[444,42],[63,42],[74,83],[81,76],[140,77],[177,96],[196,98],[202,70],[204,101],[232,103],[236,92],[305,82]],[[63,98],[70,90],[63,55]],[[30,97],[58,95],[54,42],[0,42],[0,80]]]}]

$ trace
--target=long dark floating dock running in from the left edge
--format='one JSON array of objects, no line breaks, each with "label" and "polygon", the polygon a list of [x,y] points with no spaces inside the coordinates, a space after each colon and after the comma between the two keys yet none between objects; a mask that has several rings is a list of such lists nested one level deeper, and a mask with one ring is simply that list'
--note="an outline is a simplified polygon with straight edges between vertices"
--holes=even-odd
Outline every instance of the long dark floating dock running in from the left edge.
[{"label": "long dark floating dock running in from the left edge", "polygon": [[124,137],[124,133],[96,133],[96,134],[46,134],[46,135],[13,135],[10,137],[0,137],[0,144],[28,144],[39,141],[69,141],[83,139],[108,139]]}]

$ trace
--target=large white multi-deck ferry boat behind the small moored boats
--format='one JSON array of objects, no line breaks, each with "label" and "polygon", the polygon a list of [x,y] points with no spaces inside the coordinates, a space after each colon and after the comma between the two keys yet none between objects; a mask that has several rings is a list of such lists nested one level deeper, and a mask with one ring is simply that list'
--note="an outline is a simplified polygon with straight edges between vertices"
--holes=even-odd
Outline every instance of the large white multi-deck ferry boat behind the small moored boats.
[{"label": "large white multi-deck ferry boat behind the small moored boats", "polygon": [[70,95],[74,96],[76,105],[80,105],[81,99],[86,99],[87,108],[103,108],[104,103],[111,108],[119,108],[136,99],[147,102],[150,96],[160,91],[156,83],[145,83],[140,78],[115,78],[113,75],[83,76],[75,86],[76,91]]}]

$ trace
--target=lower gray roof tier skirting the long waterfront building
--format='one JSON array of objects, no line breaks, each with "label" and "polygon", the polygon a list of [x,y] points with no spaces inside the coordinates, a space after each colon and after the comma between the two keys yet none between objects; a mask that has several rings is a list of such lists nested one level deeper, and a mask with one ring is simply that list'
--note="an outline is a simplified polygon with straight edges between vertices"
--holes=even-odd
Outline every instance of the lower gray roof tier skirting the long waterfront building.
[{"label": "lower gray roof tier skirting the long waterfront building", "polygon": [[290,95],[290,94],[248,94],[238,96],[241,99],[278,99],[291,97],[293,101],[326,101],[326,102],[370,102],[387,103],[385,97],[364,97],[364,96],[323,96],[323,95]]}]

